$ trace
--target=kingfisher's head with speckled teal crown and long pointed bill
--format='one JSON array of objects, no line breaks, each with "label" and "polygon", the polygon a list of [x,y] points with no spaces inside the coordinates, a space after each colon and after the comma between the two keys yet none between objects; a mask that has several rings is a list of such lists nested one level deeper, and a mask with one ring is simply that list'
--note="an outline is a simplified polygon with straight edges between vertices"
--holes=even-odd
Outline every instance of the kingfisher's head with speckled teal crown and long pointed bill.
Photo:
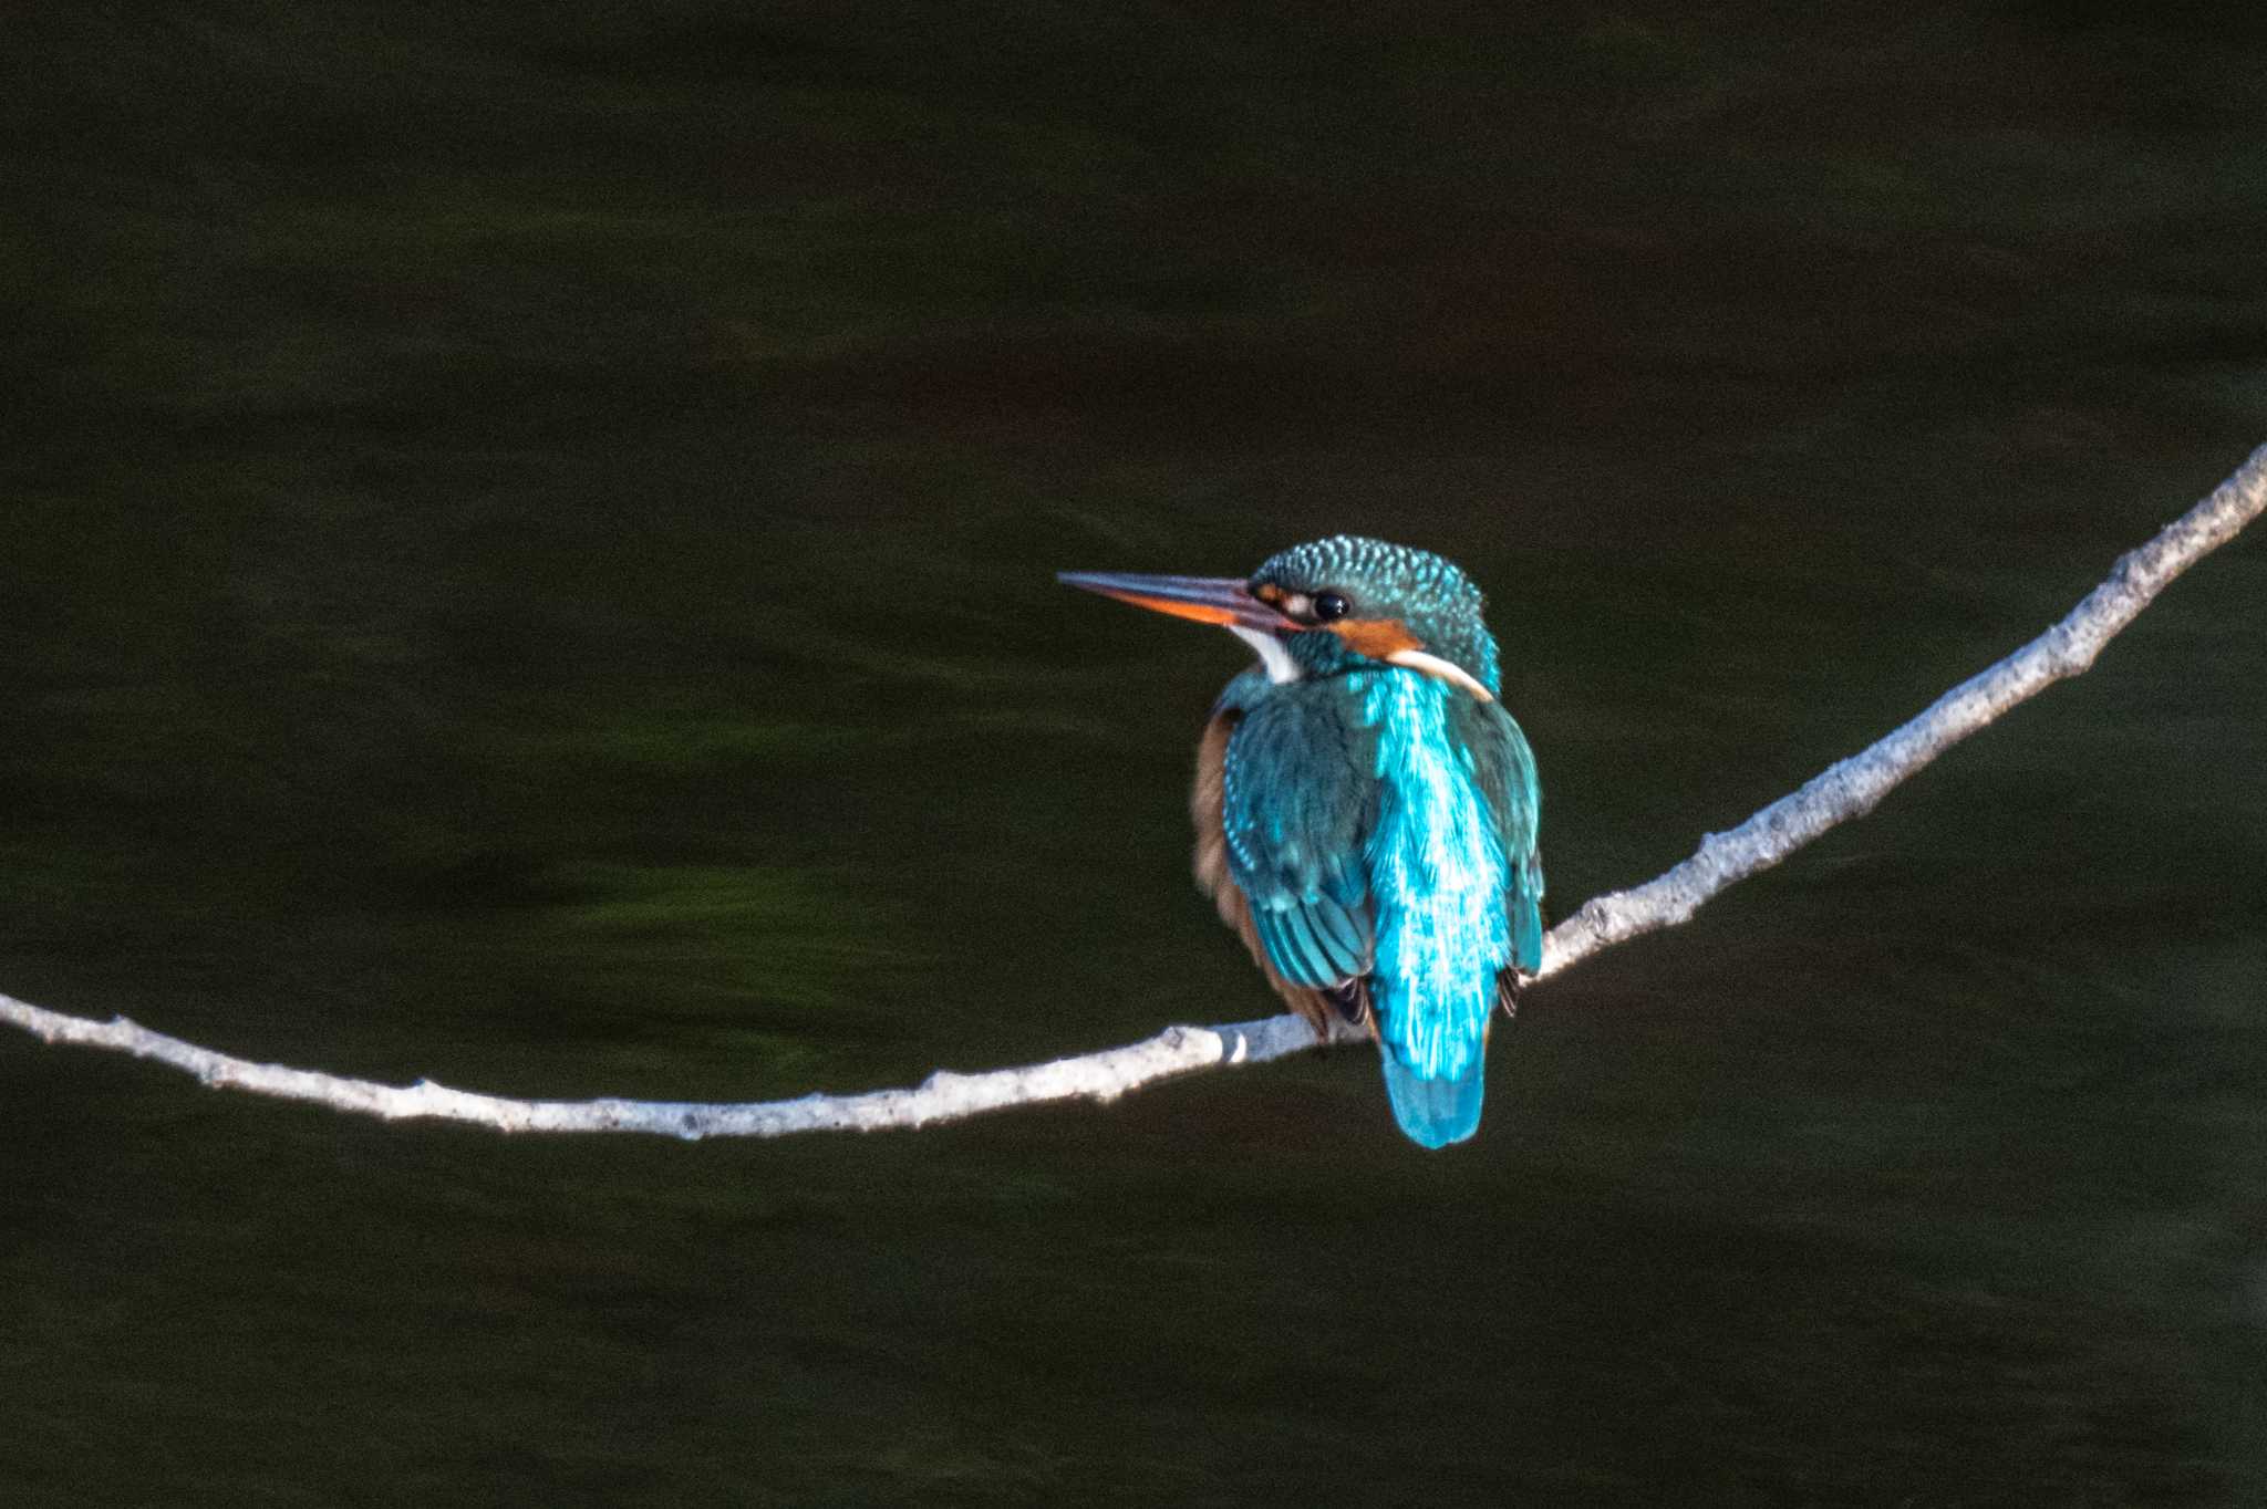
[{"label": "kingfisher's head with speckled teal crown and long pointed bill", "polygon": [[1362,666],[1406,666],[1483,702],[1498,689],[1480,589],[1428,551],[1333,535],[1270,555],[1249,580],[1063,571],[1099,591],[1245,639],[1276,682]]}]

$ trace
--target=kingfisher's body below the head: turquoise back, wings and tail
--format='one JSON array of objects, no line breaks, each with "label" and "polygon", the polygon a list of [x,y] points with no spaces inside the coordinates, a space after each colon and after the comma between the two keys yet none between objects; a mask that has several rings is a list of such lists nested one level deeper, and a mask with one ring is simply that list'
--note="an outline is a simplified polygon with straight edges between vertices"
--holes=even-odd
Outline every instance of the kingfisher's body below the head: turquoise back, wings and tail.
[{"label": "kingfisher's body below the head: turquoise back, wings and tail", "polygon": [[1374,1011],[1424,1146],[1480,1122],[1487,1022],[1542,963],[1535,759],[1510,716],[1412,671],[1236,677],[1197,757],[1197,879],[1294,1011]]}]

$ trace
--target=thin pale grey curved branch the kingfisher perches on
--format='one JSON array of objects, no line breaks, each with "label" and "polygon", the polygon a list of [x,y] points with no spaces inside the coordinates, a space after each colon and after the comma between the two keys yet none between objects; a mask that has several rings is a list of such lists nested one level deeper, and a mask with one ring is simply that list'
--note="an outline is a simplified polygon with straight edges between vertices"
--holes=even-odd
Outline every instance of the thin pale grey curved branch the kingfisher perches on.
[{"label": "thin pale grey curved branch the kingfisher perches on", "polygon": [[[2065,675],[2079,675],[2095,655],[2165,585],[2197,560],[2219,548],[2267,508],[2267,446],[2244,460],[2213,496],[2165,526],[2156,539],[2124,555],[2108,580],[2086,594],[2068,619],[1975,675],[1895,730],[1873,748],[1829,766],[1793,795],[1784,795],[1727,834],[1707,834],[1691,859],[1659,879],[1630,890],[1594,897],[1544,938],[1537,977],[1560,974],[1598,949],[1639,933],[1675,927],[1703,902],[1757,870],[1768,870],[1836,822],[1861,818],[1897,782],[1954,743],[1977,732],[2018,702]],[[43,1011],[0,995],[0,1022],[20,1026],[45,1042],[116,1049],[152,1058],[206,1085],[315,1101],[390,1122],[440,1117],[496,1131],[632,1131],[669,1137],[784,1137],[805,1131],[882,1131],[927,1126],[961,1117],[1036,1106],[1043,1101],[1113,1101],[1158,1079],[1267,1063],[1317,1047],[1304,1020],[1283,1015],[1224,1026],[1168,1026],[1156,1038],[1079,1058],[1036,1063],[988,1074],[939,1069],[914,1090],[868,1094],[807,1094],[796,1101],[691,1103],[691,1101],[508,1101],[467,1094],[433,1081],[381,1085],[338,1079],[313,1069],[252,1063],[202,1049],[125,1017],[88,1022]]]}]

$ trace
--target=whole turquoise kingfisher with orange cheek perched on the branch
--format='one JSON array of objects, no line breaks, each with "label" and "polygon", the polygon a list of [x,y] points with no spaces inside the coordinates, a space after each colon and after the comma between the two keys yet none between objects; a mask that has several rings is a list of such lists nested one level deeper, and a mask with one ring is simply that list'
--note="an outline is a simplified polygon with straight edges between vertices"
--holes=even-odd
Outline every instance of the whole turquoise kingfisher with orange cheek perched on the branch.
[{"label": "whole turquoise kingfisher with orange cheek perched on the branch", "polygon": [[1258,655],[1197,743],[1197,886],[1317,1038],[1333,1013],[1369,1031],[1410,1140],[1471,1137],[1489,1022],[1544,958],[1542,793],[1480,589],[1358,535],[1249,578],[1059,580]]}]

